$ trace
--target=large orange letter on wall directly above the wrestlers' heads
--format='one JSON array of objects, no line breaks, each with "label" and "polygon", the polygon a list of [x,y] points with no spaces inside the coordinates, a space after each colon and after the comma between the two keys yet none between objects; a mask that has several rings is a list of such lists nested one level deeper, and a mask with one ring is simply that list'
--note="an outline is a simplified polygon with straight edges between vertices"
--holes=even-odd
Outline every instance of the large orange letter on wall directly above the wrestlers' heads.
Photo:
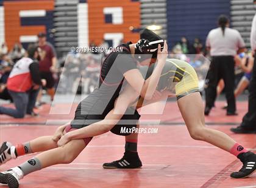
[{"label": "large orange letter on wall directly above the wrestlers' heads", "polygon": [[[111,8],[113,14],[108,13]],[[115,15],[115,11],[118,14],[120,8],[122,18]],[[137,42],[140,38],[138,33],[132,33],[129,29],[130,26],[140,27],[140,2],[132,2],[131,0],[88,0],[88,18],[90,42],[101,44],[105,33],[119,33],[119,35],[124,36],[124,41]]]}]

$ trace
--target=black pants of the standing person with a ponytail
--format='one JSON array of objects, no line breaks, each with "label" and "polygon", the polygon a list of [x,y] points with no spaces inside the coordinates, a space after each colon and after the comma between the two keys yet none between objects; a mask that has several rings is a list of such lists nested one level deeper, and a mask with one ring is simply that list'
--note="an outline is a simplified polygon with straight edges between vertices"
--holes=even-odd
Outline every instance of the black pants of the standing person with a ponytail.
[{"label": "black pants of the standing person with a ponytail", "polygon": [[222,78],[225,83],[227,112],[236,111],[235,105],[235,61],[233,56],[213,56],[206,77],[205,100],[206,106],[212,108],[216,99],[216,88]]}]

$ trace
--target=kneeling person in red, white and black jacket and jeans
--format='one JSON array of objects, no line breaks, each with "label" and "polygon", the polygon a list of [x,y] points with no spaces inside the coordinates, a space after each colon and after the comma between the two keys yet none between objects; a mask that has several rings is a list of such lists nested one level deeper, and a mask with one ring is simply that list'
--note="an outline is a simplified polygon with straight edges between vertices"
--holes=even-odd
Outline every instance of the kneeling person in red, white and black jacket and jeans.
[{"label": "kneeling person in red, white and black jacket and jeans", "polygon": [[26,113],[32,116],[37,115],[33,109],[38,89],[43,84],[38,65],[40,49],[38,46],[30,45],[27,53],[28,57],[20,59],[13,66],[7,80],[7,89],[12,96],[15,109],[0,106],[0,114],[13,116],[14,118],[24,118]]}]

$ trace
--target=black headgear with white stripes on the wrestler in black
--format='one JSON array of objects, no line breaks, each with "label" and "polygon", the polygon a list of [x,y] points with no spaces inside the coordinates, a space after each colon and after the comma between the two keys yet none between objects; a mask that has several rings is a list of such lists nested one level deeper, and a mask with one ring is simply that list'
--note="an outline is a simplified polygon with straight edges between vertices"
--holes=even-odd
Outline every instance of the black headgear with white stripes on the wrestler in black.
[{"label": "black headgear with white stripes on the wrestler in black", "polygon": [[145,58],[148,59],[148,56],[143,58],[141,54],[152,54],[152,58],[157,58],[158,44],[160,44],[161,49],[163,49],[164,40],[160,38],[160,36],[151,30],[142,30],[140,33],[140,40],[135,45],[135,58],[140,62],[144,61]]}]

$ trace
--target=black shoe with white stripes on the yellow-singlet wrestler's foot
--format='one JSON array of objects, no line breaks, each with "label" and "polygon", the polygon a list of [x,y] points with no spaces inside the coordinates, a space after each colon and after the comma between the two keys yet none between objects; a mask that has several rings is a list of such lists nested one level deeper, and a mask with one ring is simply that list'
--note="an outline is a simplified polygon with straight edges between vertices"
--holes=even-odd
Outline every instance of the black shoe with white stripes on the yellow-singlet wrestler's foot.
[{"label": "black shoe with white stripes on the yellow-singlet wrestler's foot", "polygon": [[238,158],[243,163],[243,167],[238,172],[231,173],[232,178],[246,178],[256,171],[256,155],[254,153],[240,153]]}]

